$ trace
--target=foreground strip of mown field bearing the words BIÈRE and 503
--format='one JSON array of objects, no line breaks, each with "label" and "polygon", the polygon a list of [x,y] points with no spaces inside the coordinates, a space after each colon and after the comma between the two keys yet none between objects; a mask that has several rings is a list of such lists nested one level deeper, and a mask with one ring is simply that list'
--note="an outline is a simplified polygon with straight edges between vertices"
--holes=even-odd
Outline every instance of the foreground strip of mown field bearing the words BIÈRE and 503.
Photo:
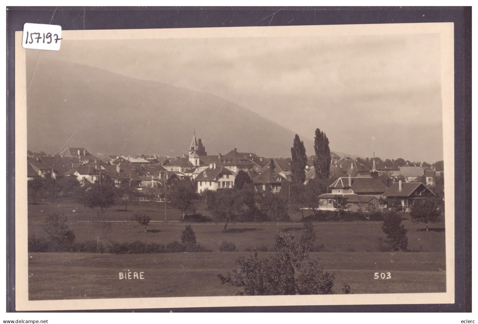
[{"label": "foreground strip of mown field bearing the words BI\u00c8RE and 503", "polygon": [[[30,253],[31,300],[228,296],[237,289],[222,285],[235,259],[248,252],[197,252],[111,255]],[[261,252],[268,256],[271,252]],[[313,252],[336,273],[334,289],[344,282],[354,293],[445,292],[445,257],[438,252]],[[144,280],[119,280],[120,271],[143,271]],[[390,272],[391,279],[373,279]]]}]

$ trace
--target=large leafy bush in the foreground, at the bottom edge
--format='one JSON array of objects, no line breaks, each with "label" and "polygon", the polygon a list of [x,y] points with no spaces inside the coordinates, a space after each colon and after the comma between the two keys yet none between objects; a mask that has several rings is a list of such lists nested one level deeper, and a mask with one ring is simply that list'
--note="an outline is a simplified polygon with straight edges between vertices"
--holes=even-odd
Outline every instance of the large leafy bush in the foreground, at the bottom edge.
[{"label": "large leafy bush in the foreground, at the bottom edge", "polygon": [[240,270],[217,276],[223,284],[238,287],[240,296],[333,294],[335,274],[324,271],[318,258],[309,259],[307,245],[293,239],[276,234],[275,254],[259,259],[254,250],[236,260]]}]

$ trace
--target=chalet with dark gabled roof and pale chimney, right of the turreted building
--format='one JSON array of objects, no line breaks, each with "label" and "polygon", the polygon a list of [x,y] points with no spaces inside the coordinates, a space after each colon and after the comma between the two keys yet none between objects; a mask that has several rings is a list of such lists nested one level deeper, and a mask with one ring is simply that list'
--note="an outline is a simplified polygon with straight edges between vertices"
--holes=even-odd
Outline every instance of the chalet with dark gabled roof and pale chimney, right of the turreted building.
[{"label": "chalet with dark gabled roof and pale chimney, right of the turreted building", "polygon": [[383,194],[389,203],[395,201],[402,205],[405,212],[410,212],[412,205],[434,195],[435,194],[421,182],[402,183],[402,181],[392,184]]}]

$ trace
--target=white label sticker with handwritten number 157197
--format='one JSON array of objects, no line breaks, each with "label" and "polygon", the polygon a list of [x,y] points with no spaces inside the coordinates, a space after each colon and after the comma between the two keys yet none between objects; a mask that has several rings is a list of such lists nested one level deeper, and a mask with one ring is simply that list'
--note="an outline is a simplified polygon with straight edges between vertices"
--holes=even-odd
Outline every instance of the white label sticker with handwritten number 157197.
[{"label": "white label sticker with handwritten number 157197", "polygon": [[43,23],[23,25],[22,46],[36,50],[58,51],[61,42],[61,26]]}]

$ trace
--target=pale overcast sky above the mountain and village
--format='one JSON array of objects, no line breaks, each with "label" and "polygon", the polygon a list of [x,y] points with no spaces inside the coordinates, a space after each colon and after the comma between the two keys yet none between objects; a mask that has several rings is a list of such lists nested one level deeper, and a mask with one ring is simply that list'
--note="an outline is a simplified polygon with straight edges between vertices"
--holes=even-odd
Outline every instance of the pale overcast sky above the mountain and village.
[{"label": "pale overcast sky above the mountain and village", "polygon": [[60,51],[41,55],[224,97],[311,140],[320,128],[333,150],[435,162],[443,159],[439,41],[438,34],[62,41]]}]

